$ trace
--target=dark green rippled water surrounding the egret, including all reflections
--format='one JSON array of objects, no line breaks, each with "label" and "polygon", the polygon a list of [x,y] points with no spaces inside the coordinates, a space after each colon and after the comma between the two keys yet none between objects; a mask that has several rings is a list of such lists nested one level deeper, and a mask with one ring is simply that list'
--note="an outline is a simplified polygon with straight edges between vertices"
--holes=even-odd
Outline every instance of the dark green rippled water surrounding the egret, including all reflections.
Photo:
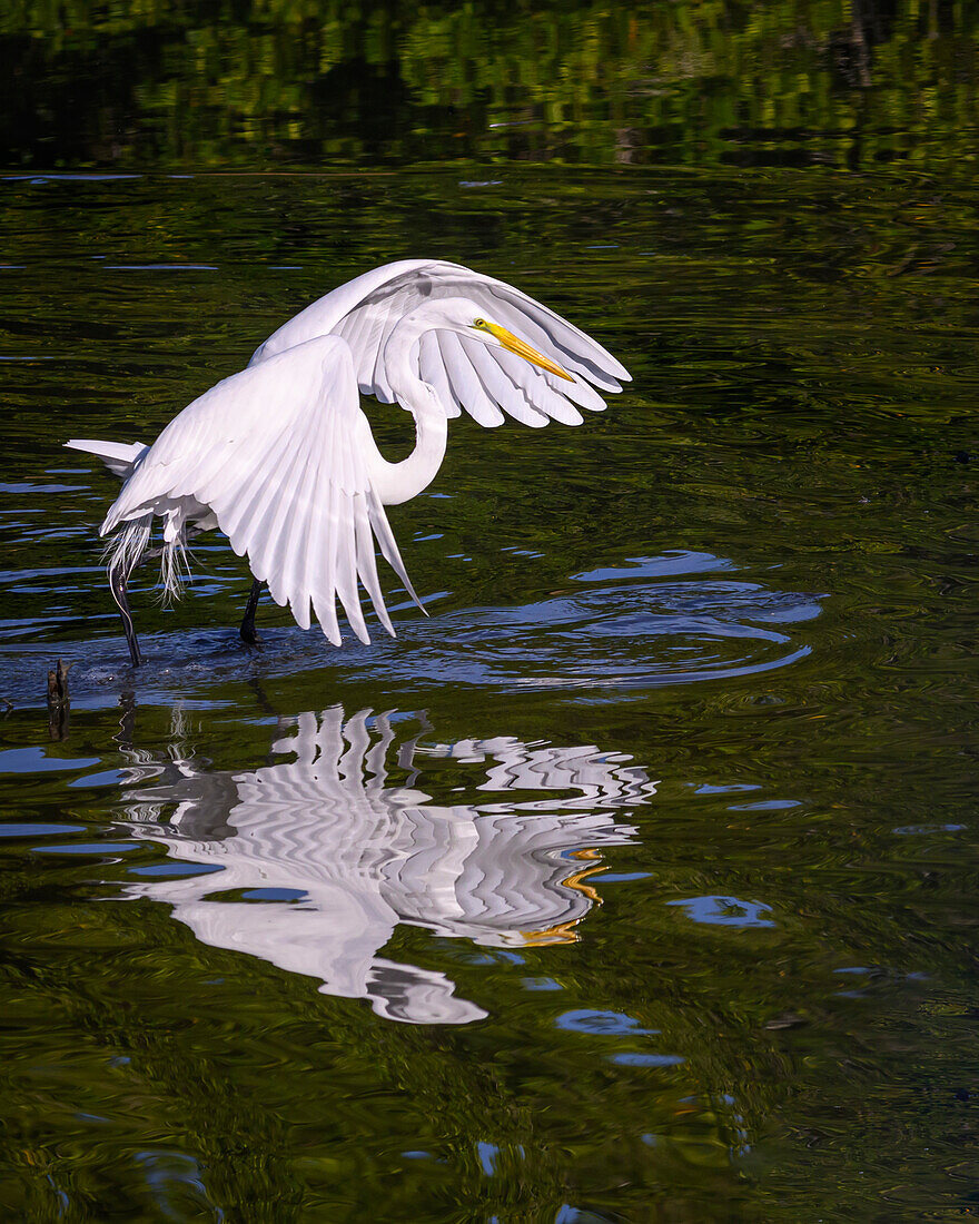
[{"label": "dark green rippled water surrounding the egret, including all reflections", "polygon": [[[5,1218],[970,1218],[974,11],[279,7],[0,22]],[[60,443],[412,255],[635,382],[133,674]]]}]

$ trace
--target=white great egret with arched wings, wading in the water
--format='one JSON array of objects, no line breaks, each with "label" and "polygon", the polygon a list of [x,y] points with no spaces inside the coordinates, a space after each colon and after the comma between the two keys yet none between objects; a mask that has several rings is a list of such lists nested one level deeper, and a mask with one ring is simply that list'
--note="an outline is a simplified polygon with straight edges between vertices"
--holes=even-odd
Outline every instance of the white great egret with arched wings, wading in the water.
[{"label": "white great egret with arched wings, wading in the water", "polygon": [[[422,607],[405,573],[385,506],[434,479],[448,420],[480,425],[507,412],[530,426],[580,425],[600,411],[595,390],[630,375],[600,344],[519,289],[441,259],[403,259],[367,272],[307,306],[261,344],[248,367],[188,404],[152,446],[72,438],[125,483],[99,535],[130,655],[140,646],[126,586],[163,519],[163,579],[180,590],[187,531],[219,528],[255,578],[241,636],[255,643],[263,583],[310,628],[310,603],[339,646],[337,599],[363,643],[360,580],[394,635],[374,563],[382,554]],[[594,384],[594,386],[592,386]],[[359,390],[396,400],[415,417],[408,459],[374,444]],[[425,611],[422,608],[422,611]]]}]

